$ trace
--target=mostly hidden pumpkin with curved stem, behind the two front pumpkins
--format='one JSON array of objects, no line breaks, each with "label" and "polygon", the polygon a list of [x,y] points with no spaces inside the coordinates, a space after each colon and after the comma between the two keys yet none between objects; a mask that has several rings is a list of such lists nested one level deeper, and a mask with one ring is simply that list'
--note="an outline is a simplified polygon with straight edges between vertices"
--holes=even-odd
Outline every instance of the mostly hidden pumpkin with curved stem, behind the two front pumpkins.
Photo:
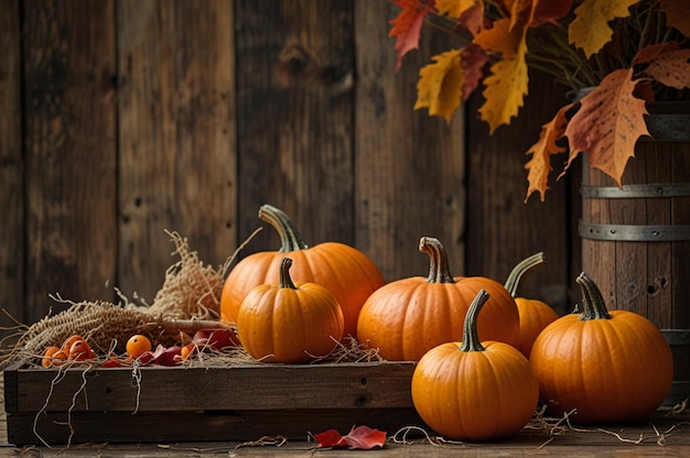
[{"label": "mostly hidden pumpkin with curved stem, behind the two front pumpkins", "polygon": [[520,315],[520,341],[518,350],[529,358],[532,344],[539,334],[551,323],[558,319],[558,314],[553,308],[539,299],[531,299],[519,296],[520,285],[525,275],[546,263],[543,252],[532,254],[520,261],[510,272],[506,280],[506,290],[515,298]]}]

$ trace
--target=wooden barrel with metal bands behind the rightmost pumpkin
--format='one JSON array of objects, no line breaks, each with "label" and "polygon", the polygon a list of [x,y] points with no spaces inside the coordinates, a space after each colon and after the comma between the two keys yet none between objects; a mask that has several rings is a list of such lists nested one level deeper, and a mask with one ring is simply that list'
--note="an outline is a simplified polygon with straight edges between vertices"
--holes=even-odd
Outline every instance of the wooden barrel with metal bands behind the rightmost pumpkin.
[{"label": "wooden barrel with metal bands behind the rightmost pumpkin", "polygon": [[664,406],[690,397],[690,102],[655,103],[623,187],[584,161],[582,268],[610,308],[656,324],[673,352]]}]

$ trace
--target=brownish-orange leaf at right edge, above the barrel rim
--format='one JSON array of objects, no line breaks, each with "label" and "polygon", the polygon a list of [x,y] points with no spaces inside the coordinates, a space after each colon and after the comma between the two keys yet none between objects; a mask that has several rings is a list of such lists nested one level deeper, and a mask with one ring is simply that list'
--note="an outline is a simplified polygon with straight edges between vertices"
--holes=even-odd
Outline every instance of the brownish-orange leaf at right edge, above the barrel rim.
[{"label": "brownish-orange leaf at right edge, above the barrel rim", "polygon": [[677,42],[659,43],[639,50],[633,64],[648,64],[645,75],[676,89],[690,87],[690,50]]}]

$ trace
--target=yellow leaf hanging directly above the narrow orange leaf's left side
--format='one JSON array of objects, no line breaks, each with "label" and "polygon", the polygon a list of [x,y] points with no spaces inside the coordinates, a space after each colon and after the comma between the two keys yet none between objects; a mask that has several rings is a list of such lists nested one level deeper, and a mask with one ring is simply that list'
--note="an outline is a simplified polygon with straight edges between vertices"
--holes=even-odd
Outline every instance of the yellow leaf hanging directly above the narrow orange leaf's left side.
[{"label": "yellow leaf hanging directly above the narrow orange leaf's left side", "polygon": [[509,124],[522,107],[529,83],[526,53],[527,44],[522,40],[517,54],[492,65],[492,74],[484,80],[486,89],[482,94],[486,101],[479,108],[479,115],[488,123],[489,133],[500,124]]}]

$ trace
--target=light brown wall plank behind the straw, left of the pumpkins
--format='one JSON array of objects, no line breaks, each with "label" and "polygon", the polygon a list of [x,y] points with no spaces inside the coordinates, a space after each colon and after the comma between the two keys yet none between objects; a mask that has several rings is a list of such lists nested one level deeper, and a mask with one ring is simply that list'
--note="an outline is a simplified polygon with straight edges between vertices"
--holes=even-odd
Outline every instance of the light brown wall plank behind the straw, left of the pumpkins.
[{"label": "light brown wall plank behind the straw, left of the pumpkins", "polygon": [[151,302],[177,260],[165,230],[207,264],[236,248],[233,2],[118,2],[122,292]]}]

